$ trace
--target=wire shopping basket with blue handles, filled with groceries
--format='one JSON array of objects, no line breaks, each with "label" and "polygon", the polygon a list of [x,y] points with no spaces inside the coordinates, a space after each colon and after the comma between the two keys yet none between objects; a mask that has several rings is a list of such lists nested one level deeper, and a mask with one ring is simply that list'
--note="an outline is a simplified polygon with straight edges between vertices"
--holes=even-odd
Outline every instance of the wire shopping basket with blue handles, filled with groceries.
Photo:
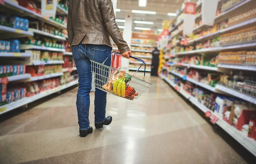
[{"label": "wire shopping basket with blue handles, filled with groceries", "polygon": [[[114,60],[116,54],[121,55],[121,53],[114,51],[110,53],[107,59],[112,55],[112,53],[114,53]],[[119,97],[127,98],[128,100],[134,100],[135,98],[137,99],[139,96],[141,96],[141,94],[145,92],[152,84],[145,81],[146,63],[142,59],[132,56],[130,57],[142,62],[137,71],[135,71],[135,73],[132,75],[117,68],[104,65],[107,59],[103,61],[103,63],[90,60],[92,67],[92,78],[94,78],[92,84],[95,86],[95,88]],[[141,80],[135,77],[135,74],[143,64],[145,66],[144,77]]]}]

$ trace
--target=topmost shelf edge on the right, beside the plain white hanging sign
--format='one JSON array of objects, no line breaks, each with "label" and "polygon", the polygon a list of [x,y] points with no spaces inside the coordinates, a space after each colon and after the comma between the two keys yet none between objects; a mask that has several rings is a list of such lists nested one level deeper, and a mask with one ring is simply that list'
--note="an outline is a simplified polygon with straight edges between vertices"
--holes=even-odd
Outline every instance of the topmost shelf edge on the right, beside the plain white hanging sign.
[{"label": "topmost shelf edge on the right, beside the plain white hanging sign", "polygon": [[217,15],[215,17],[214,23],[216,24],[216,23],[219,23],[219,22],[227,19],[231,13],[235,13],[238,10],[238,8],[244,6],[245,4],[248,4],[249,2],[252,2],[252,1],[254,1],[254,0],[245,0],[244,2],[241,2],[240,4],[232,7],[231,9],[229,9],[223,13],[220,13],[219,15]]}]

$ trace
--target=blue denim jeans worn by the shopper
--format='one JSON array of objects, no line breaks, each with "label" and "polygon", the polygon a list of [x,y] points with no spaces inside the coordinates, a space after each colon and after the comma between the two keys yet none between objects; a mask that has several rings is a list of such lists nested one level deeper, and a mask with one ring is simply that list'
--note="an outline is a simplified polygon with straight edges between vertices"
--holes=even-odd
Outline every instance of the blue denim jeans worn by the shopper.
[{"label": "blue denim jeans worn by the shopper", "polygon": [[[110,55],[112,48],[106,45],[79,44],[73,47],[73,59],[79,76],[79,87],[76,97],[78,124],[80,130],[89,129],[90,91],[92,89],[92,73],[90,60],[103,63]],[[105,65],[110,66],[111,57]],[[94,122],[101,123],[106,119],[107,93],[96,88],[94,98]]]}]

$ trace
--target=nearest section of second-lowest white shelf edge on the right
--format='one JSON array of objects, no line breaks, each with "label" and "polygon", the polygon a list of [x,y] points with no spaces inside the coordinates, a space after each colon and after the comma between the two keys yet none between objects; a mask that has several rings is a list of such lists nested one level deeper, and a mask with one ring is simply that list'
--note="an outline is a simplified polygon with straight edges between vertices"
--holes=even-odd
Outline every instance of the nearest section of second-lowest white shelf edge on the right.
[{"label": "nearest section of second-lowest white shelf edge on the right", "polygon": [[241,99],[243,99],[243,100],[249,101],[250,103],[256,104],[256,98],[254,98],[254,97],[252,97],[252,96],[243,94],[243,93],[241,93],[241,92],[238,92],[238,91],[236,91],[236,90],[233,90],[233,89],[224,87],[224,86],[222,86],[222,85],[216,85],[215,88],[216,88],[216,90],[221,90],[222,92],[226,92],[227,94],[236,96],[236,97],[241,98]]}]

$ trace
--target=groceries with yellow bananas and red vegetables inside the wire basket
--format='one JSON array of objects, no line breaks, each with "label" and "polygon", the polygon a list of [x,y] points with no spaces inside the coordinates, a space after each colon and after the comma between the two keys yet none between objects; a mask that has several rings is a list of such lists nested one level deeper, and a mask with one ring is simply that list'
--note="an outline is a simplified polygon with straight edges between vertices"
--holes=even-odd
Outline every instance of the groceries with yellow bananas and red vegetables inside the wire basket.
[{"label": "groceries with yellow bananas and red vegetables inside the wire basket", "polygon": [[133,100],[139,93],[133,87],[129,86],[128,82],[131,78],[132,76],[126,74],[125,71],[116,70],[108,80],[108,83],[102,86],[102,89],[117,96]]}]

